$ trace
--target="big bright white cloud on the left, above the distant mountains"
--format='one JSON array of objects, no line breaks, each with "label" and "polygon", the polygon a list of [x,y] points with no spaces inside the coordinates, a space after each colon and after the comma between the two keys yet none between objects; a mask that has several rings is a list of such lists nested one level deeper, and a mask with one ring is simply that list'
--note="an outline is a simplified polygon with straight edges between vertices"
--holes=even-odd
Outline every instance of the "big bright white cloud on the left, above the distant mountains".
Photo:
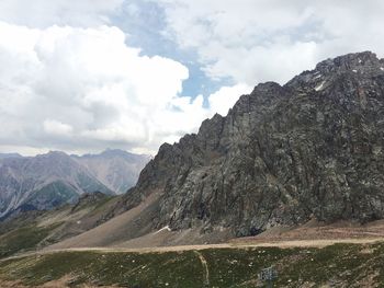
[{"label": "big bright white cloud on the left, above the distant mountains", "polygon": [[183,65],[142,56],[125,41],[116,27],[0,22],[1,146],[156,151],[246,92],[245,85],[222,89],[205,108],[203,96],[181,96],[189,77]]}]

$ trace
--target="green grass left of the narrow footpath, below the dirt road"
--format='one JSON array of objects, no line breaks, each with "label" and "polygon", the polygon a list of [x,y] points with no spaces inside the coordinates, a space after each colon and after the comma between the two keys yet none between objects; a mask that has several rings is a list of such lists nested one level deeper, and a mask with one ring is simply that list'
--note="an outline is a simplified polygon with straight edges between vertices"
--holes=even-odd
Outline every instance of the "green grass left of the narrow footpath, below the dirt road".
[{"label": "green grass left of the narrow footpath, below the dirt road", "polygon": [[203,278],[199,277],[201,264],[193,252],[63,252],[7,261],[0,265],[0,274],[12,272],[9,279],[22,279],[26,285],[42,285],[70,274],[75,276],[71,286],[117,283],[124,287],[203,287]]}]

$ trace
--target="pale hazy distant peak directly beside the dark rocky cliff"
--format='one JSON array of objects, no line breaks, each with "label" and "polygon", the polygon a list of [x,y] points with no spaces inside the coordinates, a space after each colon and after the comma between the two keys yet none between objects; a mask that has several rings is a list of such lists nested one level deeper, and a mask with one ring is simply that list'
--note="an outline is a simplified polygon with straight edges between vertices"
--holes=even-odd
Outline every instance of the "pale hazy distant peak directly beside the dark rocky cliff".
[{"label": "pale hazy distant peak directly beside the dark rocky cliff", "polygon": [[138,174],[150,160],[149,155],[108,149],[100,154],[72,155],[110,189],[122,194],[136,184]]}]

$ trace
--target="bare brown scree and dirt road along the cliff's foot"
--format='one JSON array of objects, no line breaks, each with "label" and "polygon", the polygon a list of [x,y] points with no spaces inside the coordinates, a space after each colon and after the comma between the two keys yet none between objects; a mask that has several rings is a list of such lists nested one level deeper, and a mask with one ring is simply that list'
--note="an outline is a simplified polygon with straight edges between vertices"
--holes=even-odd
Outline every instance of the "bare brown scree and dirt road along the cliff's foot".
[{"label": "bare brown scree and dirt road along the cliff's foot", "polygon": [[[221,240],[228,239],[229,231],[222,230],[214,233],[201,234],[200,229],[184,231],[169,231],[161,229],[157,232],[147,232],[142,237],[124,241],[124,233],[129,233],[129,222],[139,215],[145,207],[155,203],[157,197],[149,197],[140,207],[137,207],[87,231],[75,238],[54,244],[45,251],[84,251],[95,250],[105,252],[166,252],[184,250],[203,250],[221,247],[245,246],[326,246],[335,243],[372,243],[384,241],[384,220],[369,224],[353,222],[337,222],[324,224],[309,221],[297,228],[272,228],[257,237],[238,238],[226,243]],[[142,207],[143,206],[143,207]],[[123,239],[121,241],[120,239]],[[212,244],[218,243],[218,244]]]}]

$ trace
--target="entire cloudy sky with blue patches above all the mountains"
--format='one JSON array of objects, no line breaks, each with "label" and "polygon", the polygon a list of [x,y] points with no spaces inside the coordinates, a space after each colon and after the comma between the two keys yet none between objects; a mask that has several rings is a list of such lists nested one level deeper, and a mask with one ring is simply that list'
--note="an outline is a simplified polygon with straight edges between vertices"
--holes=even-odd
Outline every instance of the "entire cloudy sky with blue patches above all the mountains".
[{"label": "entire cloudy sky with blue patches above all the mountains", "polygon": [[264,81],[384,56],[381,0],[0,0],[0,152],[156,153]]}]

